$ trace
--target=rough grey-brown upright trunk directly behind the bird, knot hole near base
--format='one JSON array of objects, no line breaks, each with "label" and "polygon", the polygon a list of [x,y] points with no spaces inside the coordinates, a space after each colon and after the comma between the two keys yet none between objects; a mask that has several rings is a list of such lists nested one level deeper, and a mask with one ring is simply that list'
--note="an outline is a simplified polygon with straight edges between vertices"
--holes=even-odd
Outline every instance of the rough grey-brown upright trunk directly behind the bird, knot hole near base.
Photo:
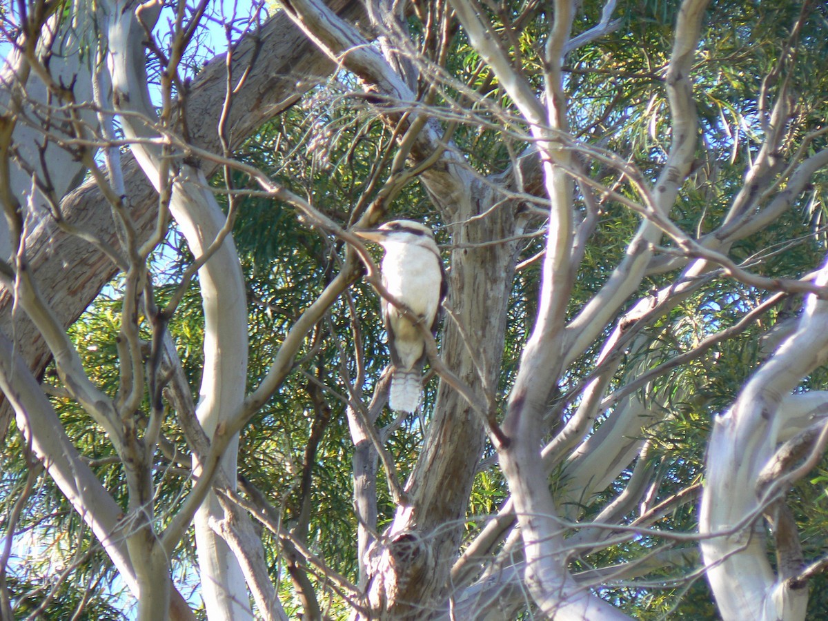
[{"label": "rough grey-brown upright trunk directly behind the bird, knot hole near base", "polygon": [[[500,198],[490,185],[480,183],[471,185],[457,203],[440,205],[463,223],[451,231],[456,248],[451,253],[445,305],[450,312],[443,320],[441,355],[474,392],[492,399],[517,257],[514,243],[488,243],[514,234],[513,210],[490,209]],[[473,218],[480,214],[486,215]],[[382,619],[416,618],[445,605],[484,441],[479,414],[440,383],[425,444],[407,484],[412,503],[397,509],[384,544],[375,544],[369,555],[368,598]]]}]

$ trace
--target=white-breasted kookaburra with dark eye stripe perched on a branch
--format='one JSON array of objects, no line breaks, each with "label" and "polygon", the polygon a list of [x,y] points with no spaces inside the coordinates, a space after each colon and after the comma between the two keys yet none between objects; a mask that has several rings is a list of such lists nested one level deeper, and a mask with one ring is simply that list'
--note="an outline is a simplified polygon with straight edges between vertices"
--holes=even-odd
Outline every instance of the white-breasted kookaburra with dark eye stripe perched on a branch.
[{"label": "white-breasted kookaburra with dark eye stripe perched on a branch", "polygon": [[[356,233],[383,247],[383,285],[396,300],[420,315],[435,334],[446,283],[431,229],[412,220],[392,220],[378,229]],[[422,397],[426,341],[417,326],[392,303],[383,298],[382,305],[394,367],[388,402],[393,410],[414,412]]]}]

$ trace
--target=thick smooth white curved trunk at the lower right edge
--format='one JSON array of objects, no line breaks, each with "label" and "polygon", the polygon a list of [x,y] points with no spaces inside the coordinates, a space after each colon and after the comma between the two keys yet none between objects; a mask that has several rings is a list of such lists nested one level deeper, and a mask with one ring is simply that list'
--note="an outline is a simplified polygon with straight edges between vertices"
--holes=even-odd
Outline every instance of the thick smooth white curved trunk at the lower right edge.
[{"label": "thick smooth white curved trunk at the lower right edge", "polygon": [[[826,283],[828,265],[816,278],[817,285]],[[779,494],[783,502],[793,481],[782,476],[768,484],[760,475],[777,445],[798,428],[802,412],[825,407],[824,395],[788,396],[826,360],[828,302],[811,295],[796,332],[753,374],[733,407],[715,419],[699,530],[708,580],[726,621],[805,619],[807,590],[792,588],[788,580],[794,576],[782,568],[773,570],[764,537],[763,512]]]}]

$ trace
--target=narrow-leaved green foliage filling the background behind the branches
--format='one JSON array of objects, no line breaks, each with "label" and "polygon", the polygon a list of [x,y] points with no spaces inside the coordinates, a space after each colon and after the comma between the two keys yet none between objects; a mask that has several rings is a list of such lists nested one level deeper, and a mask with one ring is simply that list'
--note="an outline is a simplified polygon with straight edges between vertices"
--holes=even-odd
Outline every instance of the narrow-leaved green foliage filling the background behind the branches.
[{"label": "narrow-leaved green foliage filling the background behind the branches", "polygon": [[[431,119],[441,129],[450,128],[452,154],[465,170],[471,171],[478,181],[493,183],[493,176],[513,170],[519,154],[532,144],[527,122],[503,88],[501,78],[486,64],[465,31],[452,23],[447,53],[440,55],[430,39],[428,24],[421,19],[434,7],[424,2],[414,4],[417,11],[409,18],[407,45],[420,47],[418,62],[434,70],[431,82],[424,80],[420,84],[421,93],[428,86],[435,87],[428,102]],[[675,139],[663,81],[671,61],[679,3],[629,0],[619,4],[619,27],[572,51],[564,67],[570,147],[583,171],[578,178],[581,185],[575,191],[574,211],[580,221],[585,221],[595,205],[598,208],[595,229],[585,239],[583,258],[572,281],[566,306],[568,321],[575,320],[608,286],[619,264],[633,253],[631,243],[644,219],[640,212],[630,208],[631,202],[642,201],[642,193],[629,183],[629,176],[622,174],[619,161],[634,165],[647,183],[654,182],[666,165]],[[598,22],[603,7],[599,2],[584,2],[573,34]],[[520,65],[529,84],[542,89],[542,55],[554,16],[546,7],[533,2],[485,3],[484,8],[493,23],[493,36],[499,37],[510,60]],[[804,9],[797,3],[711,3],[700,36],[700,52],[692,68],[700,124],[696,161],[669,214],[672,223],[688,238],[704,240],[719,231],[729,218],[734,200],[744,191],[744,171],[758,157],[768,137],[768,106],[776,97],[790,96],[796,101],[779,146],[777,170],[784,168],[785,161],[797,161],[797,154],[806,156],[826,148],[822,126],[826,118],[824,94],[828,92],[828,46],[821,32],[828,15],[819,3],[809,8],[812,16],[800,20]],[[794,36],[792,25],[796,23],[801,27]],[[516,24],[521,28],[517,29]],[[437,66],[437,60],[441,65]],[[381,105],[375,105],[359,90],[359,79],[354,73],[341,70],[328,83],[315,86],[296,106],[272,118],[238,149],[235,161],[248,168],[236,166],[210,180],[225,213],[231,209],[237,213],[233,241],[243,268],[248,305],[248,392],[266,377],[288,332],[348,260],[343,238],[320,229],[295,205],[275,200],[262,191],[260,180],[249,171],[262,171],[274,185],[312,202],[318,213],[342,229],[352,227],[378,200],[382,187],[378,180],[387,180],[399,172],[393,168],[398,128],[388,120]],[[788,94],[790,84],[795,85],[794,94]],[[617,159],[604,156],[608,153]],[[446,218],[445,210],[435,207],[438,201],[424,178],[422,175],[404,185],[384,205],[385,216],[431,225],[448,263],[460,250],[459,236],[452,229],[457,223]],[[788,181],[782,179],[779,185]],[[799,278],[812,272],[828,250],[826,184],[826,171],[816,172],[807,191],[792,200],[790,209],[755,233],[735,239],[724,252],[734,263],[761,277]],[[225,187],[233,189],[232,201],[219,191]],[[593,193],[590,188],[596,187],[602,190]],[[764,190],[767,200],[753,205],[757,212],[773,200],[772,189]],[[516,211],[527,215],[505,310],[503,361],[492,390],[495,409],[500,414],[508,409],[509,393],[539,312],[543,278],[539,255],[546,248],[546,218],[542,213],[548,206],[546,197],[525,188],[515,194],[518,198],[514,202],[519,204]],[[595,205],[590,200],[595,200]],[[627,455],[607,487],[585,486],[588,491],[583,496],[570,497],[570,490],[577,489],[578,484],[573,474],[578,459],[575,444],[553,469],[551,489],[556,498],[565,499],[560,508],[568,527],[566,537],[581,537],[589,531],[590,522],[603,520],[604,512],[623,497],[634,477],[646,473],[649,482],[646,493],[639,494],[636,502],[623,505],[610,516],[614,518],[612,526],[618,530],[608,527],[607,537],[612,535],[617,541],[604,545],[595,536],[595,541],[586,545],[585,539],[577,539],[579,547],[571,551],[569,558],[575,575],[613,566],[634,566],[679,547],[647,529],[697,532],[696,505],[705,479],[711,420],[732,405],[752,373],[767,359],[763,335],[796,315],[802,306],[801,293],[788,293],[750,325],[709,349],[702,349],[706,339],[738,326],[745,315],[773,293],[750,282],[739,282],[720,266],[710,265],[694,276],[696,280],[680,299],[676,294],[675,304],[665,306],[663,312],[652,317],[635,315],[629,320],[629,336],[623,337],[628,340],[612,352],[614,358],[608,362],[602,352],[617,331],[622,338],[628,327],[622,324],[632,316],[627,314],[633,311],[635,303],[654,300],[658,291],[677,289],[686,283],[683,279],[687,262],[679,260],[684,252],[681,244],[665,237],[656,249],[657,256],[652,259],[646,277],[629,291],[614,320],[601,326],[599,335],[557,378],[550,392],[547,426],[543,436],[537,438],[543,445],[553,442],[590,398],[585,388],[612,364],[616,366],[609,372],[604,394],[612,401],[595,416],[583,438],[576,440],[598,436],[601,426],[629,402],[640,402],[646,410],[643,426],[633,438],[625,439],[636,440],[638,448],[646,448],[637,448]],[[173,226],[150,263],[157,306],[163,307],[176,296],[182,274],[192,261],[181,232]],[[200,282],[196,277],[184,286],[169,330],[192,388],[191,396],[197,400],[205,365]],[[121,381],[116,343],[122,328],[125,288],[123,277],[116,277],[70,329],[89,378],[113,398],[117,397]],[[268,499],[277,512],[279,525],[287,531],[301,531],[310,552],[324,561],[328,570],[354,583],[359,580],[355,543],[359,520],[353,508],[354,443],[348,405],[354,400],[370,400],[388,363],[378,304],[372,287],[364,281],[355,282],[331,304],[324,318],[305,335],[291,373],[244,427],[238,452],[239,477]],[[444,324],[452,321],[455,318],[446,314]],[[141,338],[151,342],[152,320],[142,317],[139,324]],[[685,354],[681,364],[660,366]],[[628,388],[636,378],[653,369],[659,373]],[[431,412],[440,399],[438,379],[429,377],[419,417],[402,419],[386,409],[377,420],[378,429],[390,434],[385,448],[392,456],[394,476],[403,482],[409,477],[413,479],[412,473],[426,445]],[[89,420],[83,407],[62,391],[54,368],[46,371],[44,383],[50,387],[51,402],[79,454],[127,513],[128,481],[112,442],[103,428]],[[826,370],[820,368],[804,380],[800,390],[822,389],[825,383]],[[139,423],[146,427],[152,410],[148,395],[144,395],[138,409]],[[152,472],[152,503],[159,529],[166,527],[181,509],[185,502],[182,489],[188,489],[193,480],[192,448],[169,405],[161,437],[163,450],[156,452]],[[4,513],[11,513],[26,480],[26,451],[16,433],[9,434],[5,449],[0,495]],[[474,483],[460,515],[461,550],[474,542],[510,498],[508,482],[496,455],[496,447],[488,444],[477,456]],[[808,559],[824,555],[826,542],[822,533],[828,520],[825,469],[826,464],[821,463],[790,494]],[[609,465],[607,471],[614,472]],[[380,476],[376,516],[379,532],[392,523],[397,511],[394,490]],[[629,529],[639,524],[642,532],[629,535]],[[84,531],[82,520],[47,477],[39,479],[26,512],[17,522],[17,537],[25,532],[39,533],[46,542],[44,546],[51,546],[50,542],[60,538],[55,533],[71,533],[81,541],[72,544],[73,554],[82,551],[85,555],[66,576],[65,583],[51,590],[52,603],[43,611],[46,618],[64,618],[65,611],[82,607],[84,590],[92,596],[84,603],[83,614],[75,619],[123,617],[116,610],[118,601],[109,600],[113,567],[107,564],[103,551]],[[293,562],[286,555],[285,543],[272,532],[262,531],[261,535],[265,562],[277,582],[286,612],[299,614],[301,597],[296,586],[285,579],[287,566]],[[194,546],[188,535],[176,547],[175,561],[185,567],[185,575],[194,571]],[[772,557],[773,551],[769,549],[768,558]],[[303,567],[308,570],[326,614],[344,619],[350,612],[347,599],[331,585],[325,572],[308,569],[307,564]],[[604,580],[594,590],[600,598],[639,619],[713,619],[715,605],[703,572],[698,569],[698,559],[688,552],[686,562],[665,564],[634,579]],[[38,575],[39,571],[42,575]],[[7,568],[7,587],[12,592],[31,594],[16,600],[16,613],[30,614],[40,603],[37,598],[41,597],[44,585],[57,574],[54,567],[21,573],[12,563]],[[826,592],[823,577],[811,582],[809,617],[816,619],[828,614]],[[527,606],[518,614],[528,615],[532,611]]]}]

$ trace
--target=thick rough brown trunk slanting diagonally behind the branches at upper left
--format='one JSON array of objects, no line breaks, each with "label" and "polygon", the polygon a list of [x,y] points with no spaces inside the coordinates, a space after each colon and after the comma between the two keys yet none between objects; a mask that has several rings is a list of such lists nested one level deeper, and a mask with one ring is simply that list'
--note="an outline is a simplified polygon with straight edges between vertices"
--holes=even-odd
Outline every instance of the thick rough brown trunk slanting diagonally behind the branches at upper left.
[{"label": "thick rough brown trunk slanting diagonally behind the branches at upper left", "polygon": [[[331,2],[334,10],[348,19],[362,14],[356,2]],[[225,56],[210,61],[193,80],[185,101],[190,142],[205,151],[221,152],[215,128],[224,101],[227,67]],[[233,95],[227,128],[229,147],[238,147],[264,121],[290,108],[301,94],[323,81],[334,64],[316,49],[283,13],[239,42],[233,51],[233,75],[249,74]],[[68,79],[67,83],[71,80]],[[202,161],[202,171],[210,176],[218,166]],[[130,156],[123,161],[124,185],[129,197],[130,216],[137,238],[149,238],[158,215],[158,195]],[[75,175],[76,176],[76,175]],[[60,210],[67,222],[89,231],[104,243],[117,244],[118,233],[111,209],[98,185],[88,181],[66,195]],[[27,257],[36,282],[60,321],[69,326],[84,312],[118,268],[98,248],[69,233],[64,233],[51,218],[43,218],[26,235]],[[14,337],[17,351],[40,377],[50,355],[37,330],[25,317],[12,319],[12,296],[0,291],[0,330]],[[5,436],[11,410],[0,410],[0,440]]]}]

